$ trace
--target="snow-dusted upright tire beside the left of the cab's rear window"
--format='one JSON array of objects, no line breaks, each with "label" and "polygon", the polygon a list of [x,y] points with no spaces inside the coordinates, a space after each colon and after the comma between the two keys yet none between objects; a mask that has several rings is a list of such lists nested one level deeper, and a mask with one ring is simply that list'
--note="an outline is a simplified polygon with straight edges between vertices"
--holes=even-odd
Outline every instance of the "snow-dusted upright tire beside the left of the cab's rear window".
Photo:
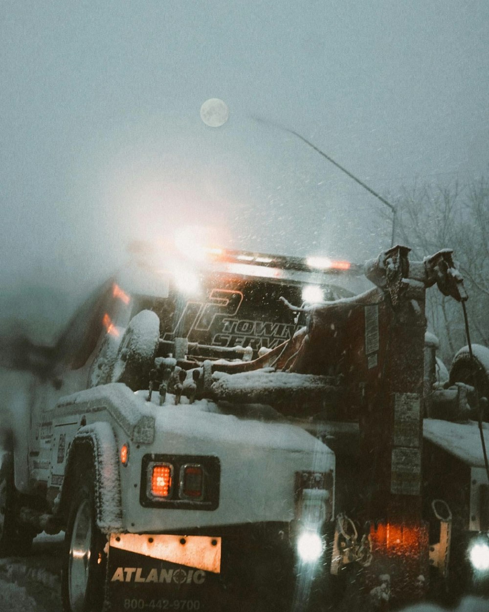
[{"label": "snow-dusted upright tire beside the left of the cab's rear window", "polygon": [[160,341],[160,318],[152,310],[134,316],[120,341],[112,368],[112,383],[125,383],[133,391],[147,384]]}]

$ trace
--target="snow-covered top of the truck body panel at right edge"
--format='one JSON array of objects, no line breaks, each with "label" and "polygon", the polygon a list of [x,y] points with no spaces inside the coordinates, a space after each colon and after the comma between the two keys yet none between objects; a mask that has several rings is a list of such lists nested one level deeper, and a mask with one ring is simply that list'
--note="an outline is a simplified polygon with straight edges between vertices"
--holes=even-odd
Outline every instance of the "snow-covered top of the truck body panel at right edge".
[{"label": "snow-covered top of the truck body panel at right edge", "polygon": [[[489,449],[489,424],[483,424],[483,430],[485,444]],[[475,421],[460,424],[445,420],[424,419],[423,436],[467,465],[474,468],[484,467],[482,442],[479,427]]]}]

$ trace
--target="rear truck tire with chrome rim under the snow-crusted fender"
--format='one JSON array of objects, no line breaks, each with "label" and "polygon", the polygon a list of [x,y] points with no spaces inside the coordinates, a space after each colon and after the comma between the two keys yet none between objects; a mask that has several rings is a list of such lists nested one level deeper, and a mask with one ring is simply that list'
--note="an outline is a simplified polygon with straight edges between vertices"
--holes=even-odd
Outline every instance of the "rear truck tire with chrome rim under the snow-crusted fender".
[{"label": "rear truck tire with chrome rim under the snow-crusted fender", "polygon": [[83,472],[70,501],[62,559],[65,612],[100,612],[103,607],[107,539],[95,518],[94,469]]}]

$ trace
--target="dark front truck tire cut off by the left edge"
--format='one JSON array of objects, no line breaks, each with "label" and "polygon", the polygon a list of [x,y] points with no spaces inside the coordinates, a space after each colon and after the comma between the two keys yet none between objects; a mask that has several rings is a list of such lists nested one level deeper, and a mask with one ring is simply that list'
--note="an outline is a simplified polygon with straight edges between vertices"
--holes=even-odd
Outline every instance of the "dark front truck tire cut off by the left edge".
[{"label": "dark front truck tire cut off by the left edge", "polygon": [[12,453],[4,452],[0,461],[0,557],[26,554],[31,550],[35,534],[15,520]]}]

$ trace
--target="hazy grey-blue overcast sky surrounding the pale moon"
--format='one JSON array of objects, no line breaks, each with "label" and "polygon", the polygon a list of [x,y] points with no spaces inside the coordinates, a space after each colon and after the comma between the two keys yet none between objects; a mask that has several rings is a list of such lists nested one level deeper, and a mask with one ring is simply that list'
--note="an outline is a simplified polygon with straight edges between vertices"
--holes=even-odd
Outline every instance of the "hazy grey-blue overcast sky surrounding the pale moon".
[{"label": "hazy grey-blue overcast sky surrounding the pale moon", "polygon": [[[2,0],[2,286],[77,288],[134,239],[356,260],[414,180],[488,171],[487,0]],[[220,128],[200,105],[229,106]]]}]

